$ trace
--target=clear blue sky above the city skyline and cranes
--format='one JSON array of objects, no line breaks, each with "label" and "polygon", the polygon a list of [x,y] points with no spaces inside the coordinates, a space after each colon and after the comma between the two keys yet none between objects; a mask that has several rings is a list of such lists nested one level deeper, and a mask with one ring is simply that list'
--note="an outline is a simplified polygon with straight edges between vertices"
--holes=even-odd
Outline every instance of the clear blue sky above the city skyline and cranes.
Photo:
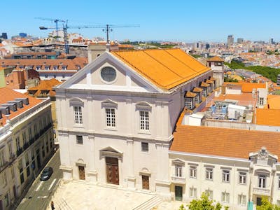
[{"label": "clear blue sky above the city skyline and cranes", "polygon": [[[0,33],[48,36],[38,27],[55,27],[42,18],[69,20],[70,25],[134,25],[116,28],[110,39],[226,41],[228,34],[251,41],[280,41],[279,0],[182,1],[1,1]],[[102,29],[69,29],[87,38],[105,37]]]}]

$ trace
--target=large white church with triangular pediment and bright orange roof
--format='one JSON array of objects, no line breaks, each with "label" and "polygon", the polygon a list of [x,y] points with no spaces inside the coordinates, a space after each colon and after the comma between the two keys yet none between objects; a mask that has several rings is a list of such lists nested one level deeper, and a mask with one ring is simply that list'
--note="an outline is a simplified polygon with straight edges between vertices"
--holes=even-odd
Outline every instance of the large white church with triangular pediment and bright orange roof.
[{"label": "large white church with triangular pediment and bright orange roof", "polygon": [[192,108],[211,94],[212,76],[180,49],[99,55],[55,88],[64,179],[171,200],[173,130],[185,103]]}]

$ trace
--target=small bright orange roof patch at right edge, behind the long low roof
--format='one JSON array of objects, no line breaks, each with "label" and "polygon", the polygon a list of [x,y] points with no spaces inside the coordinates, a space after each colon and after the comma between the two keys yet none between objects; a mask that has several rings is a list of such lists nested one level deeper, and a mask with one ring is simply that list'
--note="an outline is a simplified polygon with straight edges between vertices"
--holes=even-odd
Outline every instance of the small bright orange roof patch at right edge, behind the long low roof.
[{"label": "small bright orange roof patch at right edge, behind the long low roof", "polygon": [[280,109],[257,109],[255,115],[257,125],[280,126]]}]

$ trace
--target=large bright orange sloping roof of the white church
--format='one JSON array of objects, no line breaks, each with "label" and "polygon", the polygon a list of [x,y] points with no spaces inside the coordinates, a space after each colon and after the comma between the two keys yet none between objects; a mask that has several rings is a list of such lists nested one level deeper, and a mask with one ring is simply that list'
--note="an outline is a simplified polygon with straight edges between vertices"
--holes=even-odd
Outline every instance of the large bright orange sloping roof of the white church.
[{"label": "large bright orange sloping roof of the white church", "polygon": [[211,70],[180,49],[124,50],[111,53],[166,90]]}]

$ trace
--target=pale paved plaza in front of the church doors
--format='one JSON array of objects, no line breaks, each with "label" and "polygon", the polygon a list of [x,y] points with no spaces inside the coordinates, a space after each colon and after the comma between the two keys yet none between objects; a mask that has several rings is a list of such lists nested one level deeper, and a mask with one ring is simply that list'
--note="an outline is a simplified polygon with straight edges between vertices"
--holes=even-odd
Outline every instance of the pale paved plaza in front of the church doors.
[{"label": "pale paved plaza in front of the church doors", "polygon": [[[143,204],[154,200],[153,193],[129,191],[122,188],[95,186],[83,181],[61,182],[52,197],[55,209],[69,210],[132,210],[150,209]],[[159,200],[159,199],[158,199]],[[178,210],[182,202],[155,202],[153,210]],[[50,205],[48,207],[50,209]]]}]

